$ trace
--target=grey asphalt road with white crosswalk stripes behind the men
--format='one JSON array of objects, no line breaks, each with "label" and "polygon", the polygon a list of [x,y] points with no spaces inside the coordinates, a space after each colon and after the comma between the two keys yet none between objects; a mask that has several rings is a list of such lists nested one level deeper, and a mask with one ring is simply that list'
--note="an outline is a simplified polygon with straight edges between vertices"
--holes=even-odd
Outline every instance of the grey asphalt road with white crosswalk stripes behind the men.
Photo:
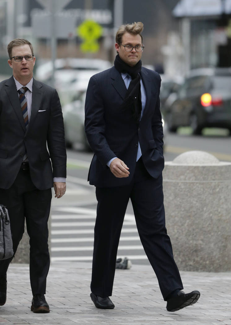
[{"label": "grey asphalt road with white crosswalk stripes behind the men", "polygon": [[[165,161],[171,161],[188,150],[207,151],[219,160],[231,162],[231,137],[220,130],[204,136],[191,136],[187,129],[180,130],[179,134],[165,135]],[[87,182],[92,155],[91,152],[80,150],[67,151],[67,191],[63,198],[52,201],[53,261],[91,262],[97,205],[95,189]],[[149,263],[138,236],[130,203],[118,249],[118,257],[122,256],[129,257],[134,264]]]}]

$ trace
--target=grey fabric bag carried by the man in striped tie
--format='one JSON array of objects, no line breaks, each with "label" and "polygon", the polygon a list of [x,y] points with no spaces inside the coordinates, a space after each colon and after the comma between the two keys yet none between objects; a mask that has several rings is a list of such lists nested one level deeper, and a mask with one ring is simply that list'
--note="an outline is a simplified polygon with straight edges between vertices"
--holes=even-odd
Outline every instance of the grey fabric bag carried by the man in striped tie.
[{"label": "grey fabric bag carried by the man in striped tie", "polygon": [[8,210],[0,204],[0,260],[14,255]]}]

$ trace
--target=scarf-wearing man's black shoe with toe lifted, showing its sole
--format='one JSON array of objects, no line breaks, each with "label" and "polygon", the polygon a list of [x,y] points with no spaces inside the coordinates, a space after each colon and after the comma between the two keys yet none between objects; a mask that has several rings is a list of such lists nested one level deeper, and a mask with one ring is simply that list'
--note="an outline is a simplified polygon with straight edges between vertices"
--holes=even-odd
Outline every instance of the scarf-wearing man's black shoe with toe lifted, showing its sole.
[{"label": "scarf-wearing man's black shoe with toe lifted, showing its sole", "polygon": [[184,307],[193,305],[200,298],[200,292],[195,290],[190,293],[184,293],[183,291],[177,292],[177,296],[167,300],[167,310],[177,311]]}]

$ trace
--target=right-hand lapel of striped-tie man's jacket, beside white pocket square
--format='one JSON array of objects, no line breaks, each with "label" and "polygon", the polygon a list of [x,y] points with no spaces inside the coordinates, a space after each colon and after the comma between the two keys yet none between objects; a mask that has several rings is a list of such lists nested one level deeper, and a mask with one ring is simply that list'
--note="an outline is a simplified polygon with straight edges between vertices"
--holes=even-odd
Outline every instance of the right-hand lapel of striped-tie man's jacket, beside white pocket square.
[{"label": "right-hand lapel of striped-tie man's jacket, beside white pocket square", "polygon": [[29,130],[33,128],[33,122],[36,118],[36,115],[38,113],[43,98],[43,91],[41,88],[42,88],[42,84],[33,78],[31,116],[30,116],[30,121],[26,132],[29,132]]}]

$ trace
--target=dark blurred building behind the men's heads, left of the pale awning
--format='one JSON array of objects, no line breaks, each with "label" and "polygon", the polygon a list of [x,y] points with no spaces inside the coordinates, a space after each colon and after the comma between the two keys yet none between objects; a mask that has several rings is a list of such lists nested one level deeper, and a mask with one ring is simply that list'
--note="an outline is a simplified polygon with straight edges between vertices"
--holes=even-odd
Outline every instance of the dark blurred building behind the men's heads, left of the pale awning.
[{"label": "dark blurred building behind the men's heads, left of the pale awning", "polygon": [[0,24],[6,26],[5,30],[1,29],[5,36],[0,53],[6,54],[6,45],[12,38],[25,37],[33,41],[37,57],[51,58],[49,10],[53,10],[56,17],[57,58],[84,56],[79,48],[81,39],[76,34],[76,27],[85,19],[93,19],[102,25],[103,35],[99,39],[100,51],[87,56],[113,61],[115,29],[118,27],[115,22],[116,2],[122,5],[117,13],[117,21],[144,23],[143,62],[162,65],[161,48],[167,42],[169,31],[178,30],[178,22],[172,17],[177,0],[143,0],[142,3],[138,0],[0,0],[2,12],[5,10],[8,19],[8,22],[4,22],[0,18]]}]

